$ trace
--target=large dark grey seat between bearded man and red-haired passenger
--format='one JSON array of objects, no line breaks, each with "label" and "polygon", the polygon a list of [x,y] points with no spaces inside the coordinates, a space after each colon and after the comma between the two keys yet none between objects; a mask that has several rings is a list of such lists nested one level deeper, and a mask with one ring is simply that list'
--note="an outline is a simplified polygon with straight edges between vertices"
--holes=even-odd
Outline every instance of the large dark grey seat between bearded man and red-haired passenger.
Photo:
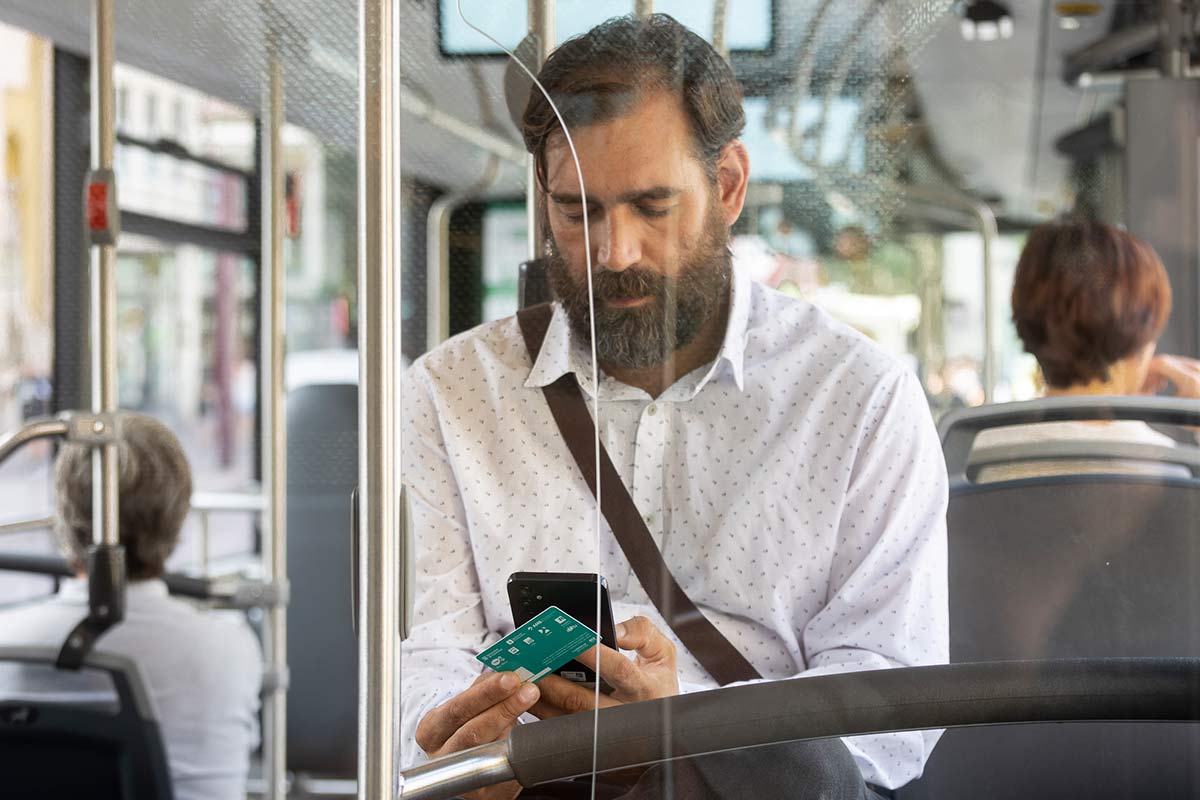
[{"label": "large dark grey seat between bearded man and red-haired passenger", "polygon": [[[1147,421],[1194,423],[1168,416]],[[1200,656],[1200,480],[972,485],[953,480],[970,451],[955,433],[943,427],[952,662]],[[1196,724],[1008,726],[947,732],[896,798],[1190,798],[1198,782]]]}]

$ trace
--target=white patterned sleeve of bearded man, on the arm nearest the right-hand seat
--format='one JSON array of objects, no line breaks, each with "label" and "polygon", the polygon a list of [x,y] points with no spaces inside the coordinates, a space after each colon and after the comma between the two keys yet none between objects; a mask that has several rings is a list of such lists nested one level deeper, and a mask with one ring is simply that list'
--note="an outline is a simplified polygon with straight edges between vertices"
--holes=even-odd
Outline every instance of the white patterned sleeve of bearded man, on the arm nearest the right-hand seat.
[{"label": "white patterned sleeve of bearded man, on the arm nearest the right-hand seat", "polygon": [[[860,428],[824,607],[802,633],[802,675],[946,663],[947,477],[916,377],[876,387]],[[854,736],[846,745],[869,783],[918,777],[940,730]]]}]

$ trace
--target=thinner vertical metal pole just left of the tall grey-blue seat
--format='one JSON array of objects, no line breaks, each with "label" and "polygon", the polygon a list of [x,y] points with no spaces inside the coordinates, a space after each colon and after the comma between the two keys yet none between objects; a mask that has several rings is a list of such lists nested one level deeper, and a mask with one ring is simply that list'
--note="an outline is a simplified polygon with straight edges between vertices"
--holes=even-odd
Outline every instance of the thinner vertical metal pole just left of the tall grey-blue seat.
[{"label": "thinner vertical metal pole just left of the tall grey-blue seat", "polygon": [[287,792],[287,409],[283,396],[283,77],[278,42],[266,42],[266,85],[263,90],[263,293],[262,447],[263,571],[280,591],[266,614],[263,655],[274,678],[263,696],[263,770],[266,796],[283,800]]}]

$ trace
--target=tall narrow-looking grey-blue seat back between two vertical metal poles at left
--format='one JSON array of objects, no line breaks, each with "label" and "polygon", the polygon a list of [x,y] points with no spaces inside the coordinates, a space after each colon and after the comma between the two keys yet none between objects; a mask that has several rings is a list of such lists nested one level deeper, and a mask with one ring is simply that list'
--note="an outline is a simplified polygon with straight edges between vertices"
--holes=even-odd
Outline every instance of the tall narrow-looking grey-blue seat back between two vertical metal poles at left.
[{"label": "tall narrow-looking grey-blue seat back between two vertical metal poles at left", "polygon": [[288,395],[288,769],[358,770],[358,640],[350,625],[350,491],[358,387]]}]

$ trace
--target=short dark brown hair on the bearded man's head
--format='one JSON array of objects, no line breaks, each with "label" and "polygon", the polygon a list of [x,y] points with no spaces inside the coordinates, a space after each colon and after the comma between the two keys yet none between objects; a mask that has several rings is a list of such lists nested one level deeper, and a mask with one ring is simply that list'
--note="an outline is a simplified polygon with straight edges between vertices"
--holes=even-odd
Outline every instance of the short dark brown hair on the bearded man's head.
[{"label": "short dark brown hair on the bearded man's head", "polygon": [[[716,160],[742,134],[742,86],[713,46],[667,14],[616,17],[563,43],[538,79],[569,128],[607,122],[650,95],[679,97],[691,120],[695,155],[709,180]],[[526,149],[546,185],[546,144],[562,131],[554,109],[534,86],[526,106]],[[649,134],[649,132],[647,132]]]}]

